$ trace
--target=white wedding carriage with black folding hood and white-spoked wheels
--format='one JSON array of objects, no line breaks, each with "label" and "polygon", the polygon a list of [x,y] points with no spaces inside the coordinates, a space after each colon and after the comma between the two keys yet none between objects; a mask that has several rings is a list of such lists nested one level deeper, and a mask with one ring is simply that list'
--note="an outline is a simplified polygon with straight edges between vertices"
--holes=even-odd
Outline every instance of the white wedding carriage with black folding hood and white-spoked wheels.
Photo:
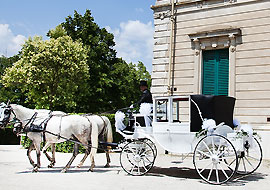
[{"label": "white wedding carriage with black folding hood and white-spoked wheels", "polygon": [[134,131],[118,130],[127,140],[122,168],[131,175],[146,174],[154,165],[157,143],[172,153],[193,154],[197,173],[208,183],[253,173],[261,164],[262,149],[252,129],[234,128],[234,104],[228,96],[154,98],[151,115],[133,115]]}]

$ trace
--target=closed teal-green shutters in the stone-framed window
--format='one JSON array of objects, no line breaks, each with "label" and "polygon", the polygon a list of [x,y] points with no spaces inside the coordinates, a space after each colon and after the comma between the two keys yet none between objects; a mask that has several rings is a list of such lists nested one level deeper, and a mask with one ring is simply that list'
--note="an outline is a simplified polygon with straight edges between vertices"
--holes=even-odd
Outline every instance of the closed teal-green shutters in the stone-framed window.
[{"label": "closed teal-green shutters in the stone-framed window", "polygon": [[205,95],[228,95],[229,50],[203,51],[203,86]]}]

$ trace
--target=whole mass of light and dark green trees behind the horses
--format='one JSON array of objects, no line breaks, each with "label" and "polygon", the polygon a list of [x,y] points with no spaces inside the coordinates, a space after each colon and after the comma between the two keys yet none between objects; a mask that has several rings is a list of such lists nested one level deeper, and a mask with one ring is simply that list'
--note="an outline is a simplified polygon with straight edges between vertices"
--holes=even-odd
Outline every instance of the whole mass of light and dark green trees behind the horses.
[{"label": "whole mass of light and dark green trees behind the horses", "polygon": [[[18,56],[1,58],[0,100],[29,108],[100,113],[137,102],[139,81],[151,76],[142,62],[116,57],[113,34],[86,10],[29,38]],[[3,85],[2,85],[3,84]]]}]

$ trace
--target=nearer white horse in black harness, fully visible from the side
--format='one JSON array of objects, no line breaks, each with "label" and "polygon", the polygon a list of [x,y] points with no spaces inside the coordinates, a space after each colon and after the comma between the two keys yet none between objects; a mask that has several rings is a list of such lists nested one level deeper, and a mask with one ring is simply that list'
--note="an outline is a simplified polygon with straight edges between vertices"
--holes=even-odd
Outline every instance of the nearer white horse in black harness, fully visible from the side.
[{"label": "nearer white horse in black harness, fully visible from the side", "polygon": [[13,120],[13,122],[15,122],[14,130],[17,133],[19,132],[19,128],[25,130],[32,120],[38,119],[39,121],[47,122],[45,133],[27,133],[27,136],[33,142],[33,145],[31,145],[27,151],[27,155],[30,155],[33,148],[37,151],[37,164],[34,164],[34,161],[29,157],[29,161],[34,167],[33,171],[36,172],[38,171],[38,168],[40,168],[40,143],[44,137],[50,144],[61,143],[69,139],[76,142],[74,143],[73,156],[63,168],[62,172],[67,171],[75,157],[78,155],[79,142],[84,145],[86,149],[89,149],[89,141],[91,141],[91,151],[89,153],[91,167],[89,171],[93,171],[95,166],[94,155],[96,154],[98,147],[98,126],[96,122],[90,121],[87,117],[79,115],[52,115],[50,117],[48,115],[45,117],[44,114],[40,114],[40,116],[37,115],[38,113],[33,109],[11,104],[2,107],[0,116],[0,126],[5,126]]}]

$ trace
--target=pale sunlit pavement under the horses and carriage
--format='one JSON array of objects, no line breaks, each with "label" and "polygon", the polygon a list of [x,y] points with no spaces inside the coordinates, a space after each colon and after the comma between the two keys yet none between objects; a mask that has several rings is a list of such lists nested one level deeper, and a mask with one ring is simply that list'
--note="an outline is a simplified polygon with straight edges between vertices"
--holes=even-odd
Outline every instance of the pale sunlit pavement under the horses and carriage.
[{"label": "pale sunlit pavement under the horses and carriage", "polygon": [[[33,158],[35,153],[33,151]],[[83,155],[74,161],[76,166]],[[236,177],[224,185],[210,185],[199,178],[192,159],[181,162],[181,157],[158,155],[155,167],[146,176],[128,176],[119,164],[119,154],[111,154],[112,167],[103,168],[105,155],[96,156],[94,172],[87,172],[90,161],[84,167],[72,167],[60,173],[71,154],[57,153],[56,166],[49,169],[49,162],[42,155],[40,172],[32,173],[26,150],[20,146],[0,146],[0,190],[170,190],[170,189],[270,189],[270,162],[264,161],[256,173]]]}]

